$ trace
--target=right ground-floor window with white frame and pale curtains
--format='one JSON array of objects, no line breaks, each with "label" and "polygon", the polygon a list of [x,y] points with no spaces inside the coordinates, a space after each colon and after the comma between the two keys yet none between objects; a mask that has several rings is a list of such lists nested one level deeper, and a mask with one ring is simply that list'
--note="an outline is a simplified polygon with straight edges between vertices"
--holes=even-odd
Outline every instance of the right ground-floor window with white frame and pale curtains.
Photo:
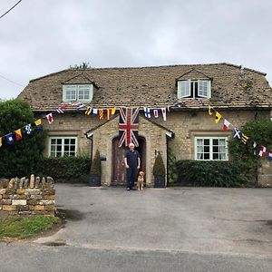
[{"label": "right ground-floor window with white frame and pale curtains", "polygon": [[228,137],[196,137],[195,160],[228,160]]}]

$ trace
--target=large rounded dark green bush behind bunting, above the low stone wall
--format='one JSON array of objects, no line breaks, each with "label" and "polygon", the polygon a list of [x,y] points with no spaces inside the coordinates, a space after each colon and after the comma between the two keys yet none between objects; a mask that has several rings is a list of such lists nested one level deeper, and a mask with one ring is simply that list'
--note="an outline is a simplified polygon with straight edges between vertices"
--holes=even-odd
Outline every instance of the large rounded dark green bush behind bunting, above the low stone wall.
[{"label": "large rounded dark green bush behind bunting, above the low stone wall", "polygon": [[[44,151],[44,131],[35,128],[34,114],[27,102],[19,99],[0,102],[0,177],[30,176],[39,166]],[[32,133],[24,130],[31,123]],[[22,140],[16,141],[15,131],[21,129]],[[9,145],[5,135],[13,133],[13,144]]]}]

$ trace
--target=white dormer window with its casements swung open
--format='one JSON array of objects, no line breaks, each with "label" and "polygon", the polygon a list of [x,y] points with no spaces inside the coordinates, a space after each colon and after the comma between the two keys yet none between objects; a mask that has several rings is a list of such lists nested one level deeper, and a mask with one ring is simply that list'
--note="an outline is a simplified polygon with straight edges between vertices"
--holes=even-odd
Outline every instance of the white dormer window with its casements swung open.
[{"label": "white dormer window with its casements swung open", "polygon": [[178,81],[178,99],[210,98],[210,81]]}]

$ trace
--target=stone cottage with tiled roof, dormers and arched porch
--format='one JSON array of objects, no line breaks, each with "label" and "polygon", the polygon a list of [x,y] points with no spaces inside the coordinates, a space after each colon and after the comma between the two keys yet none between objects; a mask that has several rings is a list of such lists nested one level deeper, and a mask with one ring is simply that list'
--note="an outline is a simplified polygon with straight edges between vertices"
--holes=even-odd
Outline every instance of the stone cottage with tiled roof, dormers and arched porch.
[{"label": "stone cottage with tiled roof, dormers and arched porch", "polygon": [[[159,152],[165,165],[169,150],[177,160],[228,160],[228,139],[233,131],[223,131],[222,121],[215,123],[208,106],[212,105],[237,128],[248,120],[269,117],[272,91],[265,76],[229,63],[72,68],[31,80],[19,98],[30,103],[36,116],[69,102],[82,102],[104,111],[116,107],[111,120],[86,115],[85,107],[76,110],[70,105],[64,113],[53,113],[52,124],[43,122],[48,131],[44,156],[92,156],[99,149],[102,184],[107,186],[125,180],[118,109],[141,107],[138,150],[146,184],[151,187],[152,166]],[[151,118],[144,116],[143,107],[151,109]],[[161,115],[164,107],[166,121]],[[153,116],[152,109],[159,109],[159,118]],[[267,160],[264,166],[265,181],[272,174],[269,163]]]}]

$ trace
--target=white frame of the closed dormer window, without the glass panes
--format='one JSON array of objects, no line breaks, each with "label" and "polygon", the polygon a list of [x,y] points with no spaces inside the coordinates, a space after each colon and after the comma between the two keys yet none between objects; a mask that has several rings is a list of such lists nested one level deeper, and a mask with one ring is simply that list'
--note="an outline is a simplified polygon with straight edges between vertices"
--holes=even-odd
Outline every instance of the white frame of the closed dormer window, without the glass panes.
[{"label": "white frame of the closed dormer window, without the glass panes", "polygon": [[[83,89],[83,90],[81,90]],[[86,90],[89,89],[89,90]],[[75,96],[73,98],[67,98],[67,92],[75,91]],[[81,91],[89,91],[89,98],[81,98]],[[83,95],[85,96],[85,95]],[[93,85],[92,84],[71,84],[71,85],[63,85],[63,102],[92,102],[93,97]]]}]

